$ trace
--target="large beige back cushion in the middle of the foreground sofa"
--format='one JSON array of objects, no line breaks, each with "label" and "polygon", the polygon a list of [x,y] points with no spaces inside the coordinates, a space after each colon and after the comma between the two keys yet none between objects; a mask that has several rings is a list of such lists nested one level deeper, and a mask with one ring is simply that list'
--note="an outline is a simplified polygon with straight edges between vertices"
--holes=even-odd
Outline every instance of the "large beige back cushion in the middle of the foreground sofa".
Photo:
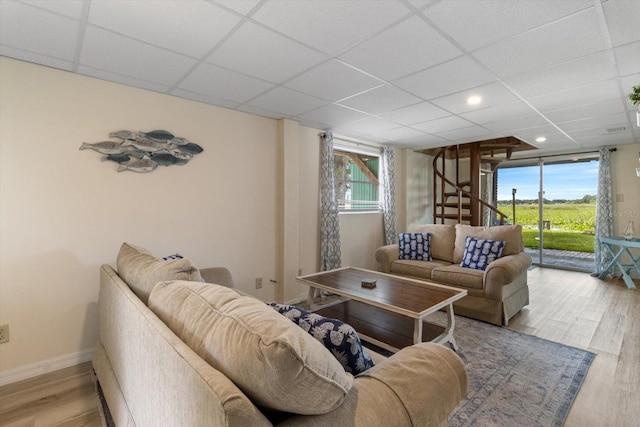
[{"label": "large beige back cushion in the middle of the foreground sofa", "polygon": [[342,403],[353,376],[301,328],[264,302],[209,283],[160,282],[149,308],[256,404],[298,414]]}]

